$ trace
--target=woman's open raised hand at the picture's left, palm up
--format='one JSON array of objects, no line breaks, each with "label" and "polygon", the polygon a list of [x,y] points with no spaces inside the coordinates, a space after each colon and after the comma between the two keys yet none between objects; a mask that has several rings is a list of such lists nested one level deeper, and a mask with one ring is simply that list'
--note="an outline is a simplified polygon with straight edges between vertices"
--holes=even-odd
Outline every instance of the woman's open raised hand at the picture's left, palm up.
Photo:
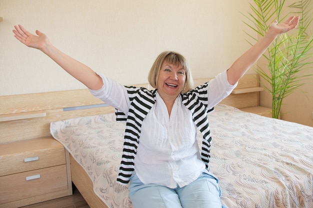
[{"label": "woman's open raised hand at the picture's left, palm up", "polygon": [[42,50],[49,43],[47,36],[39,30],[36,30],[37,35],[33,35],[22,25],[15,25],[14,28],[14,37],[28,47]]}]

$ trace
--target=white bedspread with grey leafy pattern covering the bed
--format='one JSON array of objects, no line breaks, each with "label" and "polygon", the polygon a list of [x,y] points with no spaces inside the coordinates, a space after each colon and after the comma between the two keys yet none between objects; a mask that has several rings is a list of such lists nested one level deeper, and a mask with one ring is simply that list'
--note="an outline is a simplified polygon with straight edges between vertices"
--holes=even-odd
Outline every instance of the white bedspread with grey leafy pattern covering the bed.
[{"label": "white bedspread with grey leafy pattern covering the bed", "polygon": [[[217,105],[208,116],[210,171],[228,208],[313,208],[313,128]],[[131,208],[117,184],[125,123],[114,114],[53,122],[52,136],[85,169],[109,208]],[[202,136],[198,132],[199,143]],[[199,144],[200,145],[200,144]]]}]

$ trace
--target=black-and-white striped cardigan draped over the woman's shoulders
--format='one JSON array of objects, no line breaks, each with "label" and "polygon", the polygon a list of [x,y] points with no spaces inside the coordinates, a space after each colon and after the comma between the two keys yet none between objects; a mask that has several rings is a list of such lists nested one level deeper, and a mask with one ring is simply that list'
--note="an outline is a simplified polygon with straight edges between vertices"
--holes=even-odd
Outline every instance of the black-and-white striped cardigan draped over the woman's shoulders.
[{"label": "black-and-white striped cardigan draped over the woman's shoulders", "polygon": [[[140,128],[143,119],[155,103],[157,90],[145,88],[126,87],[130,100],[128,114],[115,110],[116,121],[126,121],[124,132],[123,154],[120,163],[117,182],[123,185],[128,184],[129,178],[134,171],[134,157],[139,144]],[[180,94],[182,103],[191,111],[192,120],[203,135],[201,159],[205,167],[209,169],[211,135],[207,120],[207,83],[184,94]]]}]

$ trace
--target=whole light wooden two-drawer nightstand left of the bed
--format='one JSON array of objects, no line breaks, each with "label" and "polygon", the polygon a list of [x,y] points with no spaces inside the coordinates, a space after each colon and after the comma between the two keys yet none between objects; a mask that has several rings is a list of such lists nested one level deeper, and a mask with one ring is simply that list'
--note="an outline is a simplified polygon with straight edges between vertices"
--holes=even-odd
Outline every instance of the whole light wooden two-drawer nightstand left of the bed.
[{"label": "whole light wooden two-drawer nightstand left of the bed", "polygon": [[69,154],[52,137],[0,144],[0,208],[71,194]]}]

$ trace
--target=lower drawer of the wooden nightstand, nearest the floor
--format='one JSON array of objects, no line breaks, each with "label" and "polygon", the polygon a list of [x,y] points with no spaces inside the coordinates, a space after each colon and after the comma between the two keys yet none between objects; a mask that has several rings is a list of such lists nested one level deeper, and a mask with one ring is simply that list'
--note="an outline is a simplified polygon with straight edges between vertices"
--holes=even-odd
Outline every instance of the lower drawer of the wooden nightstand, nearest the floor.
[{"label": "lower drawer of the wooden nightstand, nearest the floor", "polygon": [[2,176],[0,205],[66,189],[66,165]]}]

